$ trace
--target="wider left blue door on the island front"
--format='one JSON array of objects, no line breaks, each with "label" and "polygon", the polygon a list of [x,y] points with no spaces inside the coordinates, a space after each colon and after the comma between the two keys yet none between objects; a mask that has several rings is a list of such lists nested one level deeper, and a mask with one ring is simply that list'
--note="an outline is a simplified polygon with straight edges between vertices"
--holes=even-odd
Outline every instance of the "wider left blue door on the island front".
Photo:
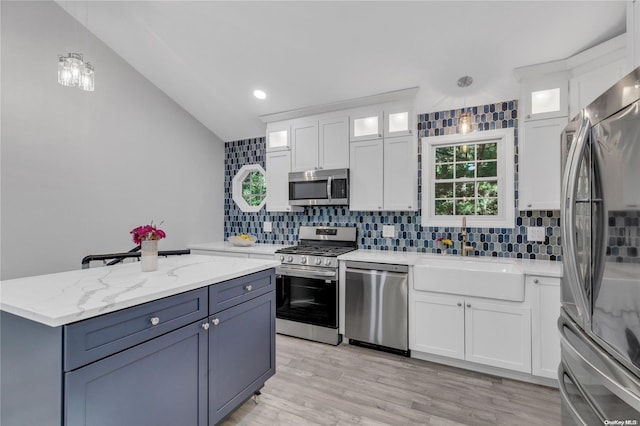
[{"label": "wider left blue door on the island front", "polygon": [[65,374],[67,426],[207,425],[199,321]]}]

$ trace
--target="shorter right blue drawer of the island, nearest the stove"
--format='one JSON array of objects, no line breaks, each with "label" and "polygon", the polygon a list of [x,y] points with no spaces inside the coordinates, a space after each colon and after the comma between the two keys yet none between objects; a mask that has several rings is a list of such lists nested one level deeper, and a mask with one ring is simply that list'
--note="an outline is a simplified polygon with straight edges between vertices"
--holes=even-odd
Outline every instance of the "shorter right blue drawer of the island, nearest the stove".
[{"label": "shorter right blue drawer of the island, nearest the stove", "polygon": [[261,296],[275,289],[273,269],[256,272],[209,287],[209,314]]}]

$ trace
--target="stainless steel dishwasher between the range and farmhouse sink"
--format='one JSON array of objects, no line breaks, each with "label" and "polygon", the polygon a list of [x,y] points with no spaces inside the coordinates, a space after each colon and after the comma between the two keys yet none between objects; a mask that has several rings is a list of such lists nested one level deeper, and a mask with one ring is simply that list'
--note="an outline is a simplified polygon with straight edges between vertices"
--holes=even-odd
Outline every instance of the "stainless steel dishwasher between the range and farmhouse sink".
[{"label": "stainless steel dishwasher between the range and farmhouse sink", "polygon": [[405,265],[346,262],[349,343],[409,356],[408,270]]}]

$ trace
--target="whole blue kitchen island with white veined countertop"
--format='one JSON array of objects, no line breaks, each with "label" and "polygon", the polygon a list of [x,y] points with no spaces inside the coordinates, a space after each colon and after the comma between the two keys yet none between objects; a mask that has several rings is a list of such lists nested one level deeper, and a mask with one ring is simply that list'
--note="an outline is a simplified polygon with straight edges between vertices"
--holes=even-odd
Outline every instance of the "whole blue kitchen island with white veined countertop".
[{"label": "whole blue kitchen island with white veined countertop", "polygon": [[271,260],[3,281],[3,425],[215,424],[275,372]]}]

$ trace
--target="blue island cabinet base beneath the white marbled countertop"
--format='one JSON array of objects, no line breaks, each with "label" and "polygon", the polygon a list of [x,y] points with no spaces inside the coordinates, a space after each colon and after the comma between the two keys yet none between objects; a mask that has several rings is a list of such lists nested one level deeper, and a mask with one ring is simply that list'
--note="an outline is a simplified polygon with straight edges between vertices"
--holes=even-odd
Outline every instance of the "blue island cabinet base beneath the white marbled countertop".
[{"label": "blue island cabinet base beneath the white marbled countertop", "polygon": [[275,373],[273,269],[48,327],[2,312],[2,426],[212,426]]}]

